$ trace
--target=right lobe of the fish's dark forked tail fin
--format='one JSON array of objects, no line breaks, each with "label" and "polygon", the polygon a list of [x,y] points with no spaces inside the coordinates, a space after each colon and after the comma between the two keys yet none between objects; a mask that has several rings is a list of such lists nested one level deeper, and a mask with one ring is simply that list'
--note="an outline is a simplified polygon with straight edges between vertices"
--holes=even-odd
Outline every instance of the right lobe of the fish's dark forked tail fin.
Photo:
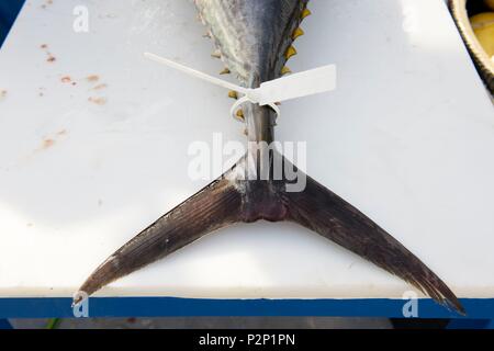
[{"label": "right lobe of the fish's dark forked tail fin", "polygon": [[288,219],[369,260],[464,315],[451,290],[402,244],[348,202],[307,177],[305,191],[285,193]]}]

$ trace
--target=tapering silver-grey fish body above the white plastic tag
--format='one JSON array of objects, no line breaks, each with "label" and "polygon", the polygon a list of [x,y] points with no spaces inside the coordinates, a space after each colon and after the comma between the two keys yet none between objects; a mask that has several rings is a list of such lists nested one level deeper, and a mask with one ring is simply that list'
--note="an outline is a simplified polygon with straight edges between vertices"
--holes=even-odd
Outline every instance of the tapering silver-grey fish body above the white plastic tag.
[{"label": "tapering silver-grey fish body above the white plastic tag", "polygon": [[308,0],[194,0],[226,67],[257,88],[279,78]]}]

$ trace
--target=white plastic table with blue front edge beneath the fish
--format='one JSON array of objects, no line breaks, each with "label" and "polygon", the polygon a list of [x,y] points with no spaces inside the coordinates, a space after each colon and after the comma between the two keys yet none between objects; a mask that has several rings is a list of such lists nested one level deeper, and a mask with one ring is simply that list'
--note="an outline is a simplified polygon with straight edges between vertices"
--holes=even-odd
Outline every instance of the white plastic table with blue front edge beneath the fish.
[{"label": "white plastic table with blue front edge beneath the fish", "polygon": [[[74,30],[81,4],[87,33]],[[338,89],[283,103],[278,138],[307,141],[313,178],[470,316],[494,316],[494,110],[444,1],[310,8],[290,67],[336,64]],[[224,90],[143,58],[217,75],[203,31],[183,0],[26,2],[0,50],[0,317],[70,314],[101,261],[209,182],[188,177],[191,143],[245,140]],[[112,283],[92,315],[398,316],[411,290],[303,228],[257,223]]]}]

